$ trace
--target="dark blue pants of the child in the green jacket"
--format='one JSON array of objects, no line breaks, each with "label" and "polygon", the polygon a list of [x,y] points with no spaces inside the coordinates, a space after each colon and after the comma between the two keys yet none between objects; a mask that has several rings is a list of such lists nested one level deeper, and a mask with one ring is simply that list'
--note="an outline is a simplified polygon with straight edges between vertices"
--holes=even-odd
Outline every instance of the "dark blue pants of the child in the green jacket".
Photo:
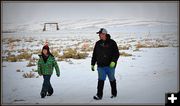
[{"label": "dark blue pants of the child in the green jacket", "polygon": [[51,75],[43,75],[43,78],[44,78],[44,82],[42,85],[41,94],[42,93],[47,94],[47,92],[48,92],[50,95],[52,95],[54,91],[53,91],[53,88],[50,83]]}]

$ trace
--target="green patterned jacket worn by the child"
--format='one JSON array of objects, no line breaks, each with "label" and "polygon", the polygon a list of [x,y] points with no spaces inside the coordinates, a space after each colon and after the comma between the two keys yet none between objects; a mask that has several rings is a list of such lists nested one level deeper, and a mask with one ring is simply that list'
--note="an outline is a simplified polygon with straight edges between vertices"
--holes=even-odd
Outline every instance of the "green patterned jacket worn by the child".
[{"label": "green patterned jacket worn by the child", "polygon": [[38,74],[39,75],[52,75],[53,69],[55,67],[56,74],[60,75],[60,70],[55,58],[49,55],[47,62],[45,63],[42,55],[39,55],[40,59],[38,60]]}]

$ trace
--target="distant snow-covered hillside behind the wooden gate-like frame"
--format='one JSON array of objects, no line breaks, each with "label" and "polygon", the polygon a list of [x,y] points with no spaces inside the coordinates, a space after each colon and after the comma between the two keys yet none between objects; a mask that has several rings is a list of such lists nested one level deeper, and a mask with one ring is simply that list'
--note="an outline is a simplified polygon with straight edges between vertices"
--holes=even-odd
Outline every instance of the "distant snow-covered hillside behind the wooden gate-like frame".
[{"label": "distant snow-covered hillside behind the wooden gate-like frame", "polygon": [[[59,25],[60,31],[68,31],[69,33],[91,32],[96,31],[100,27],[108,28],[114,32],[148,32],[148,31],[177,31],[177,22],[173,21],[158,21],[150,19],[79,19],[79,20],[56,20],[56,21],[29,21],[27,23],[3,23],[3,32],[42,32],[44,23],[56,22]],[[47,25],[47,30],[55,28],[55,25]],[[54,32],[55,30],[53,30]]]}]

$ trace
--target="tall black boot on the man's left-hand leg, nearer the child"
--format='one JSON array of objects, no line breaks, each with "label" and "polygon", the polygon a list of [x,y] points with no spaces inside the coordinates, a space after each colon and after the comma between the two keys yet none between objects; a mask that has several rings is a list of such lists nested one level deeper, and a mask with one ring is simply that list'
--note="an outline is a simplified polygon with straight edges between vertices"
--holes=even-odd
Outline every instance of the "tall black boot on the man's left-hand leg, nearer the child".
[{"label": "tall black boot on the man's left-hand leg, nearer the child", "polygon": [[95,100],[101,100],[103,96],[104,81],[98,80],[97,94],[94,96]]}]

